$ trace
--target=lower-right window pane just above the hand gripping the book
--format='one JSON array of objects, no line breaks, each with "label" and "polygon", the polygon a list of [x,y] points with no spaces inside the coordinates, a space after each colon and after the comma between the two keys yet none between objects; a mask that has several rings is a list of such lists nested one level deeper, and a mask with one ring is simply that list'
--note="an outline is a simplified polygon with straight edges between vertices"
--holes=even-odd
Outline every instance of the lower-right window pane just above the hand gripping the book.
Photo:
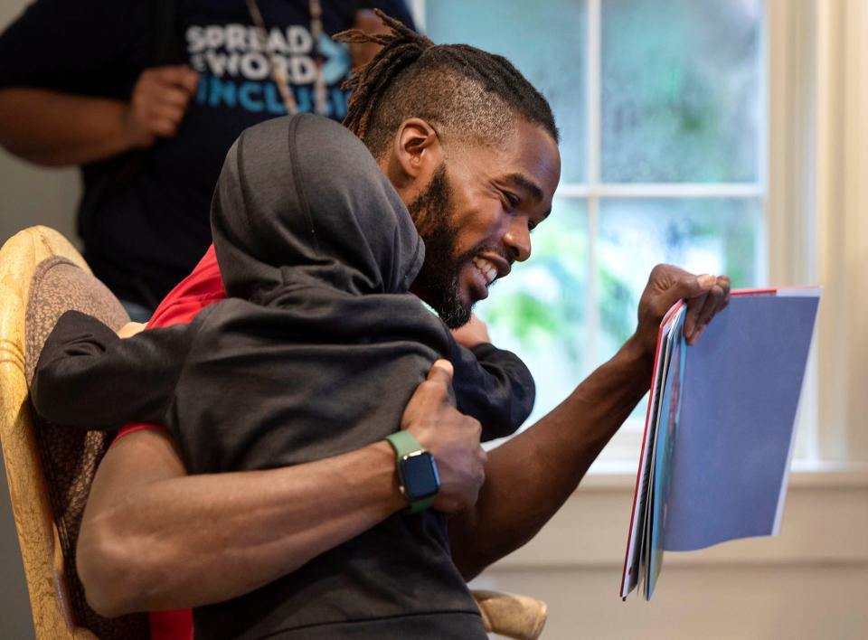
[{"label": "lower-right window pane just above the hand gripping the book", "polygon": [[695,198],[600,203],[598,290],[606,360],[636,329],[639,296],[660,262],[726,274],[733,288],[758,284],[756,200]]}]

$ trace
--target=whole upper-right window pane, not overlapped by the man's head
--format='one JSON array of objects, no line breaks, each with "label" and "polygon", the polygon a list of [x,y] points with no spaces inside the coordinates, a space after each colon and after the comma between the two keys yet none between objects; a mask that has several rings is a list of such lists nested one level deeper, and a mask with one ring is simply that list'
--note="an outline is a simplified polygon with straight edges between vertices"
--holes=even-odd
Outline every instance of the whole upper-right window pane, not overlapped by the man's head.
[{"label": "whole upper-right window pane, not overlapped by the man's head", "polygon": [[754,182],[760,0],[602,3],[604,182]]}]

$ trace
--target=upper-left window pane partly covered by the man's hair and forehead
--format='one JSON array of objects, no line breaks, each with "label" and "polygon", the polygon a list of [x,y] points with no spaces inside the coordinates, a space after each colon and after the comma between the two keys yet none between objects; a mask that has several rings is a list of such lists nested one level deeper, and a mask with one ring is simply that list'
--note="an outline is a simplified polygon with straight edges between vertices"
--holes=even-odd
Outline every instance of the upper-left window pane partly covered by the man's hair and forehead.
[{"label": "upper-left window pane partly covered by the man's hair and forehead", "polygon": [[426,3],[434,42],[503,55],[542,92],[561,130],[561,182],[585,180],[585,3],[436,0]]}]

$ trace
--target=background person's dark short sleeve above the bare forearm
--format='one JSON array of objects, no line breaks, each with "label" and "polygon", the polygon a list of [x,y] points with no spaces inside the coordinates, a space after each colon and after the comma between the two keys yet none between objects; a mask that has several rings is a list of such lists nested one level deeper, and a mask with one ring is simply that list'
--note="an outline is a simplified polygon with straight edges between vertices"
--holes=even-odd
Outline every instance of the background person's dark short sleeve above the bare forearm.
[{"label": "background person's dark short sleeve above the bare forearm", "polygon": [[120,98],[149,46],[146,15],[142,0],[36,0],[0,35],[0,88]]}]

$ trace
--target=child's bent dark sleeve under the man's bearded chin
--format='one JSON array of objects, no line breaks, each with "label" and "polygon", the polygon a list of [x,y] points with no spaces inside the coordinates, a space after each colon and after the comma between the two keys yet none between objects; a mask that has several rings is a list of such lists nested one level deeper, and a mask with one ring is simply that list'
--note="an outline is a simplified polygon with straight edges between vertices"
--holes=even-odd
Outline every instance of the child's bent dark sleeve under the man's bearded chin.
[{"label": "child's bent dark sleeve under the man's bearded chin", "polygon": [[533,375],[512,352],[494,344],[467,349],[453,341],[452,364],[457,408],[482,423],[482,439],[515,433],[531,415],[536,385]]}]

